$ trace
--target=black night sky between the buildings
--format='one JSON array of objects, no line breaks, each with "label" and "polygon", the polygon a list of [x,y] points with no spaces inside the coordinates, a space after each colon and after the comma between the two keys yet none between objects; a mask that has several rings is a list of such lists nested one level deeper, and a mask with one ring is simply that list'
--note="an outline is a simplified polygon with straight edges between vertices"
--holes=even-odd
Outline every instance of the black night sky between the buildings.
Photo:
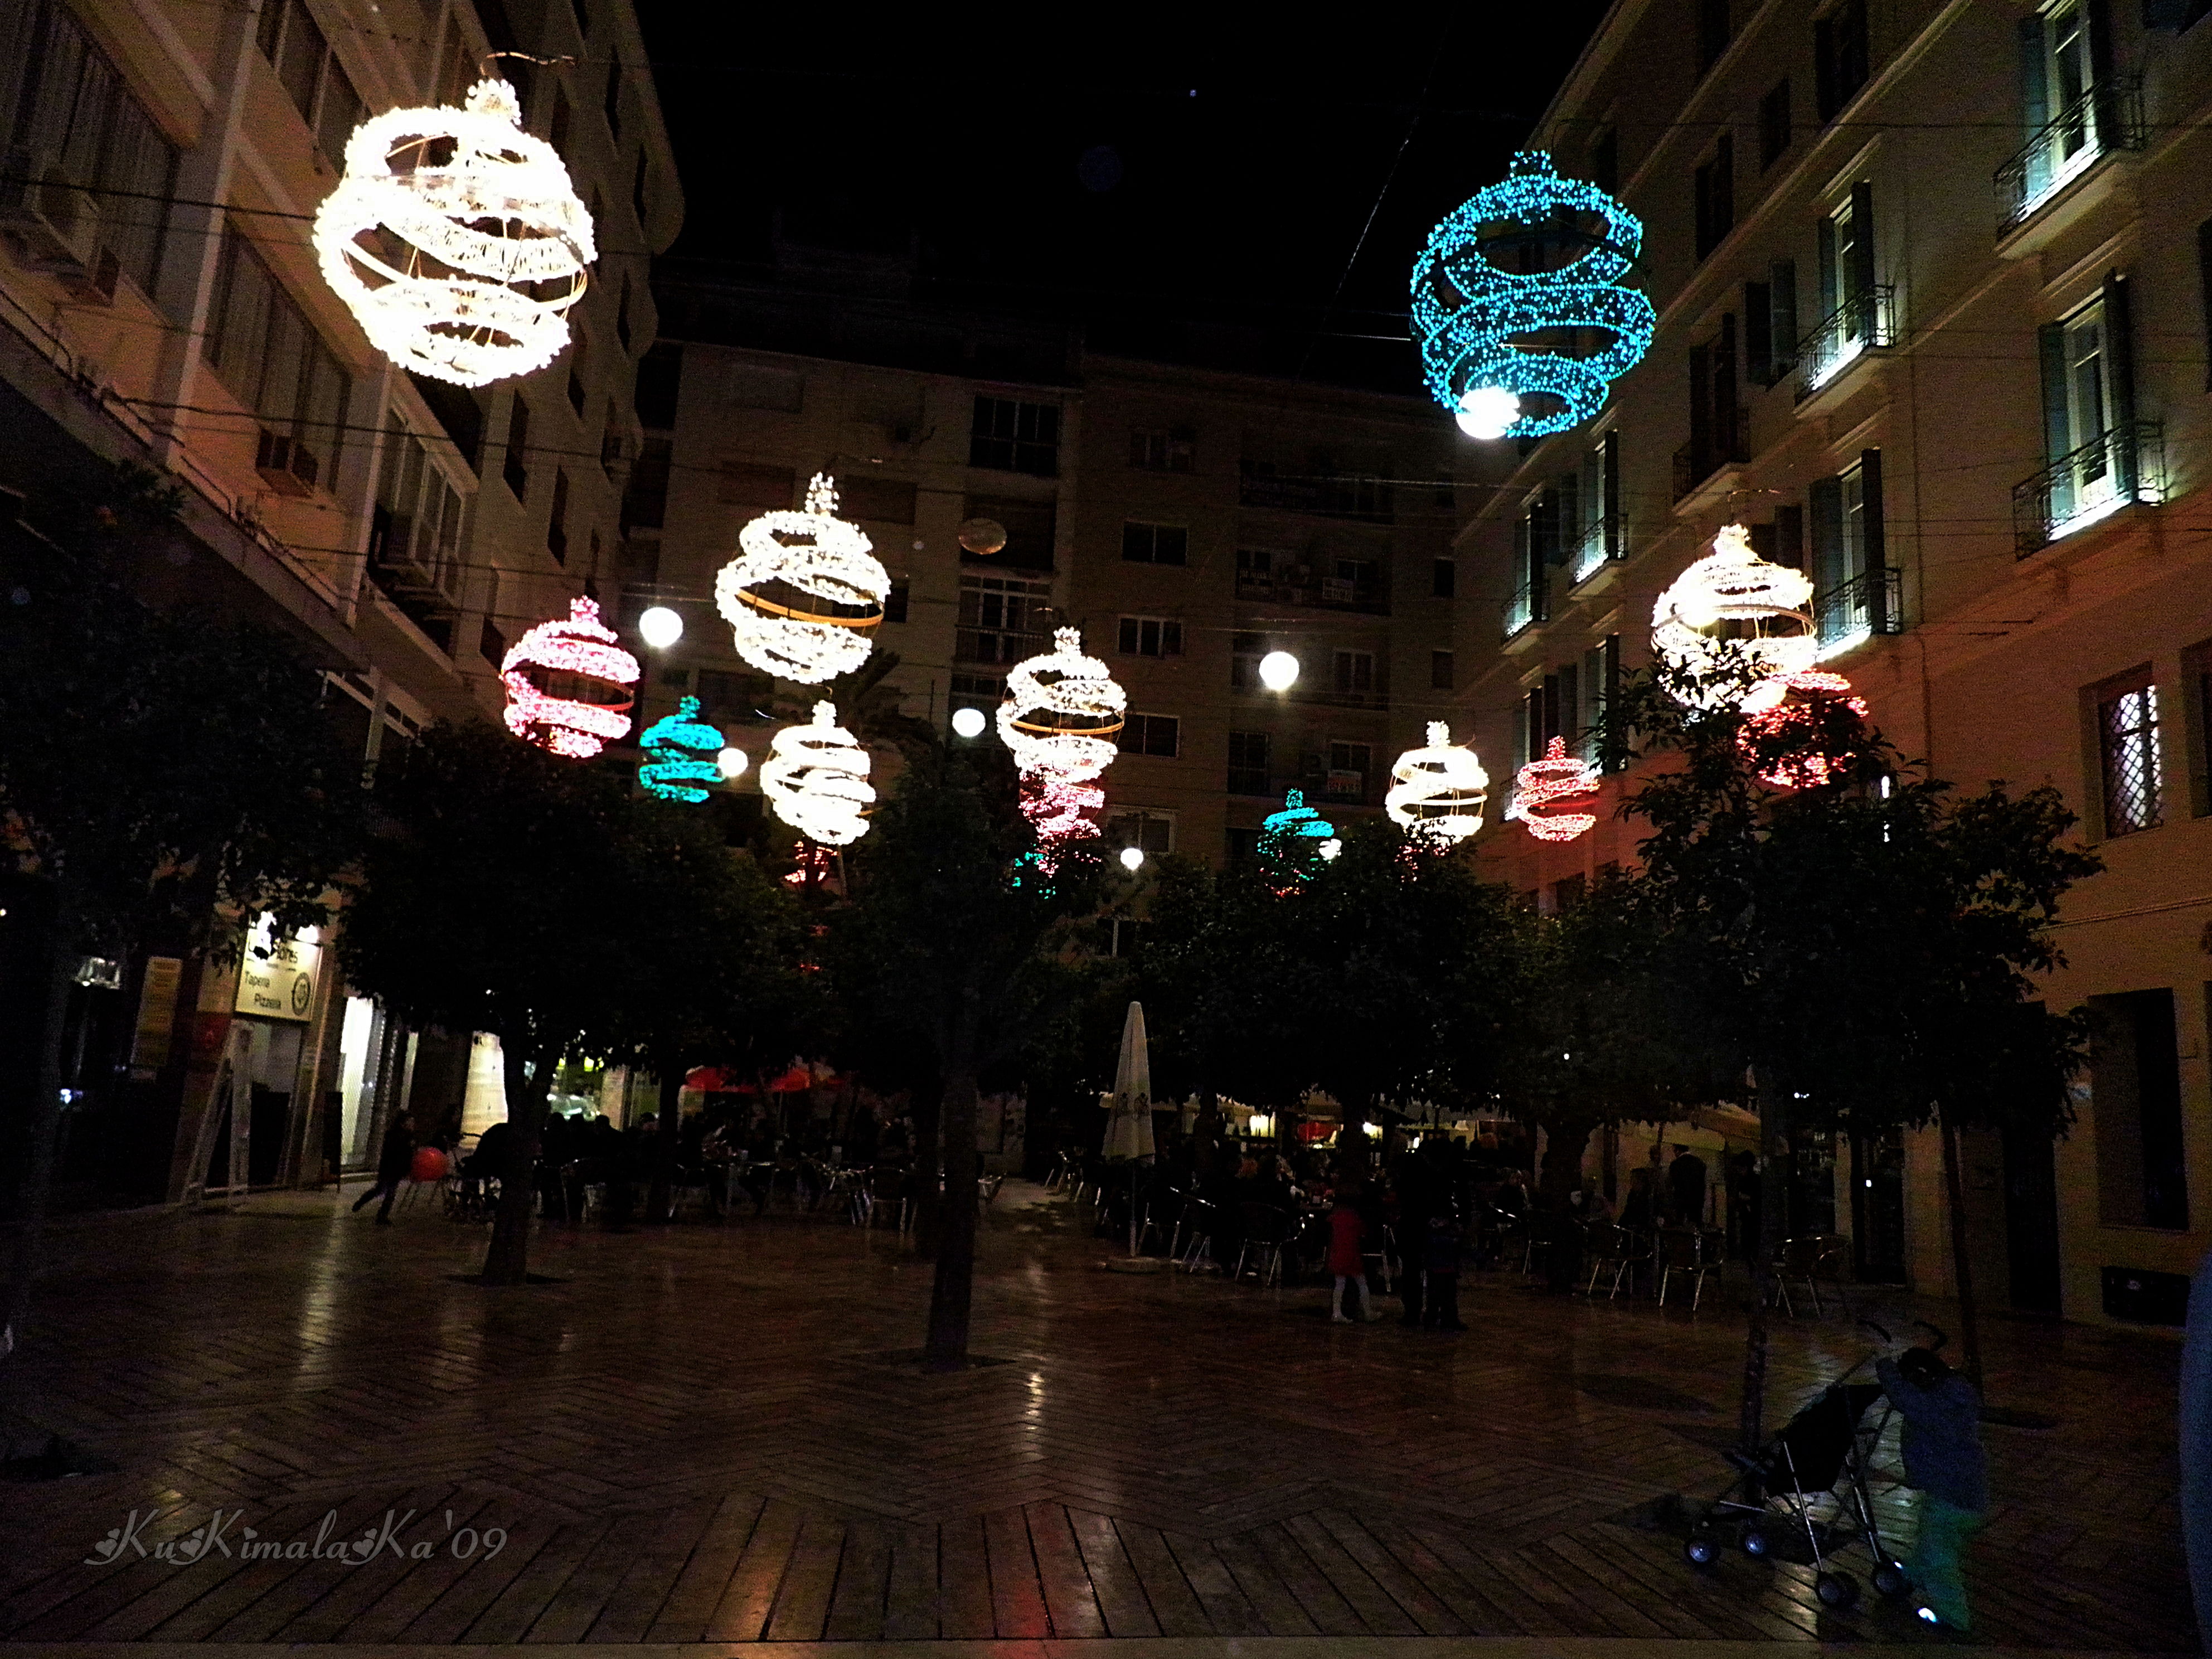
[{"label": "black night sky between the buildings", "polygon": [[960,46],[860,22],[883,13],[639,11],[679,257],[761,270],[781,212],[794,241],[914,248],[927,301],[1079,319],[1108,347],[1148,319],[1259,330],[1276,369],[1411,389],[1411,347],[1358,336],[1402,341],[1429,226],[1502,175],[1604,0],[1252,11],[1234,51],[1175,7]]}]

